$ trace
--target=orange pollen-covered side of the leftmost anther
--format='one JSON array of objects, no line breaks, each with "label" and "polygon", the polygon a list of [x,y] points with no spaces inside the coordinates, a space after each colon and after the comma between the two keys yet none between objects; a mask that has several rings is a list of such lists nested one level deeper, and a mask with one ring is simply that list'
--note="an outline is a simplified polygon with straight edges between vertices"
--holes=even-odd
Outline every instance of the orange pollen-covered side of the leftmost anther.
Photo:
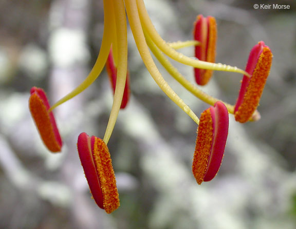
[{"label": "orange pollen-covered side of the leftmost anther", "polygon": [[54,128],[50,121],[48,109],[37,93],[31,94],[29,108],[45,146],[52,152],[61,151],[62,145],[55,138]]}]

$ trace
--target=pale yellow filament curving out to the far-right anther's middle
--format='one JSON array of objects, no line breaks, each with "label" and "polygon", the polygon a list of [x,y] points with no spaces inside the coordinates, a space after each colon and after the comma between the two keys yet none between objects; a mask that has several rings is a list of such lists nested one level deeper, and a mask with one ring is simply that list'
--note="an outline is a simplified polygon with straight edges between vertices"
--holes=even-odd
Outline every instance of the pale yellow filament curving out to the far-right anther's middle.
[{"label": "pale yellow filament curving out to the far-right anther's middle", "polygon": [[232,67],[230,65],[219,64],[219,63],[215,64],[215,63],[199,61],[196,59],[192,59],[186,55],[183,55],[180,52],[177,52],[175,49],[171,48],[165,41],[163,41],[161,36],[155,30],[150,20],[150,17],[146,11],[143,0],[136,0],[136,1],[137,1],[138,12],[139,12],[139,16],[140,16],[140,20],[143,28],[150,35],[152,41],[156,44],[156,46],[163,53],[170,56],[170,58],[172,58],[173,60],[185,65],[190,65],[195,68],[211,69],[211,70],[219,70],[219,71],[232,71],[232,72],[238,72],[238,73],[242,73],[244,75],[250,76],[249,73],[237,67]]}]

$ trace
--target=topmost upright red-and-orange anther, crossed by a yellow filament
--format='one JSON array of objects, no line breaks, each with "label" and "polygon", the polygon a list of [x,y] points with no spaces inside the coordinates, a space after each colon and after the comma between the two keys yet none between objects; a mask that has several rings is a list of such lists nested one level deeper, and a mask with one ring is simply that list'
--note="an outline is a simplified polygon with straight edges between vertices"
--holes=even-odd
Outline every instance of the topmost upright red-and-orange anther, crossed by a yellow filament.
[{"label": "topmost upright red-and-orange anther, crossed by a yellow filament", "polygon": [[[194,40],[200,42],[195,46],[195,57],[201,61],[215,62],[217,24],[215,17],[204,17],[199,14],[196,17],[193,30]],[[194,68],[195,80],[199,85],[205,85],[212,77],[213,70]]]}]

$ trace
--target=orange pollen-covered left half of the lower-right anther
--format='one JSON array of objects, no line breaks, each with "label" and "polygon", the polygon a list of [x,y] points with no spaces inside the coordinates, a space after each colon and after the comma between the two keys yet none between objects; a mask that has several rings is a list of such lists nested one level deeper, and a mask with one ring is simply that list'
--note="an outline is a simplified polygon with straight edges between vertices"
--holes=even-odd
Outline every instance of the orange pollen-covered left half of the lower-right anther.
[{"label": "orange pollen-covered left half of the lower-right anther", "polygon": [[198,184],[204,181],[208,168],[211,147],[213,141],[213,120],[210,109],[201,113],[196,146],[193,156],[192,173]]}]

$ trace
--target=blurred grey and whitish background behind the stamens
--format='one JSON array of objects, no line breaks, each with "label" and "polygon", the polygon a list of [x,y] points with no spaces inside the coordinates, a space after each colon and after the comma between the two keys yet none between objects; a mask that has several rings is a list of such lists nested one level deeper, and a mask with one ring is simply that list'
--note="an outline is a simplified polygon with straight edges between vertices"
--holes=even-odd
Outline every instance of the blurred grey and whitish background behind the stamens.
[{"label": "blurred grey and whitish background behind the stamens", "polygon": [[[254,4],[290,9],[254,9]],[[196,125],[158,88],[131,32],[132,96],[108,147],[121,206],[107,215],[90,198],[77,152],[80,132],[103,137],[113,92],[105,70],[85,92],[54,110],[64,141],[50,154],[30,117],[29,91],[53,104],[79,85],[95,63],[103,32],[102,0],[0,0],[0,228],[296,228],[296,2],[149,0],[164,40],[192,39],[195,17],[216,17],[216,61],[245,68],[265,41],[273,64],[258,110],[240,124],[230,116],[223,164],[197,185],[191,165]],[[193,49],[181,52],[192,56]],[[191,67],[174,63],[193,82]],[[208,107],[165,80],[200,114]],[[214,72],[203,88],[234,104],[242,75]]]}]

